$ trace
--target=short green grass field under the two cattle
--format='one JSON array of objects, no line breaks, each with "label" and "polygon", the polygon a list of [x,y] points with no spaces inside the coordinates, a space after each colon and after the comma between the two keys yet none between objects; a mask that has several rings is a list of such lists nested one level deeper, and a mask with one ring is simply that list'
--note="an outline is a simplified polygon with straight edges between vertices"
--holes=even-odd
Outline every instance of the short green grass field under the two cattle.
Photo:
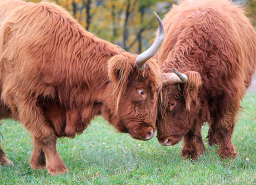
[{"label": "short green grass field under the two cattle", "polygon": [[19,122],[4,120],[0,142],[15,165],[0,167],[0,184],[256,184],[256,93],[247,94],[242,106],[233,134],[234,160],[221,160],[218,146],[207,144],[207,125],[205,154],[191,161],[180,156],[182,142],[163,147],[155,137],[136,141],[97,117],[75,139],[58,139],[57,150],[70,171],[58,176],[28,169],[30,134]]}]

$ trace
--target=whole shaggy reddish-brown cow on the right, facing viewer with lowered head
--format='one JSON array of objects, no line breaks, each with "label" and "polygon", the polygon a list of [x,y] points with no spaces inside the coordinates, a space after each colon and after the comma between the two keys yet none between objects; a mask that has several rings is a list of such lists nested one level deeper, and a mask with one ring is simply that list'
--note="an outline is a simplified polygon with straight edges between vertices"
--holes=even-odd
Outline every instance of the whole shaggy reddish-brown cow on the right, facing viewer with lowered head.
[{"label": "whole shaggy reddish-brown cow on the right, facing viewer with lowered head", "polygon": [[[256,65],[256,34],[240,7],[226,0],[181,1],[163,19],[165,39],[155,55],[163,72],[157,138],[171,146],[183,138],[183,157],[210,146],[235,157],[231,141],[240,102]],[[173,68],[184,73],[173,77]]]}]

